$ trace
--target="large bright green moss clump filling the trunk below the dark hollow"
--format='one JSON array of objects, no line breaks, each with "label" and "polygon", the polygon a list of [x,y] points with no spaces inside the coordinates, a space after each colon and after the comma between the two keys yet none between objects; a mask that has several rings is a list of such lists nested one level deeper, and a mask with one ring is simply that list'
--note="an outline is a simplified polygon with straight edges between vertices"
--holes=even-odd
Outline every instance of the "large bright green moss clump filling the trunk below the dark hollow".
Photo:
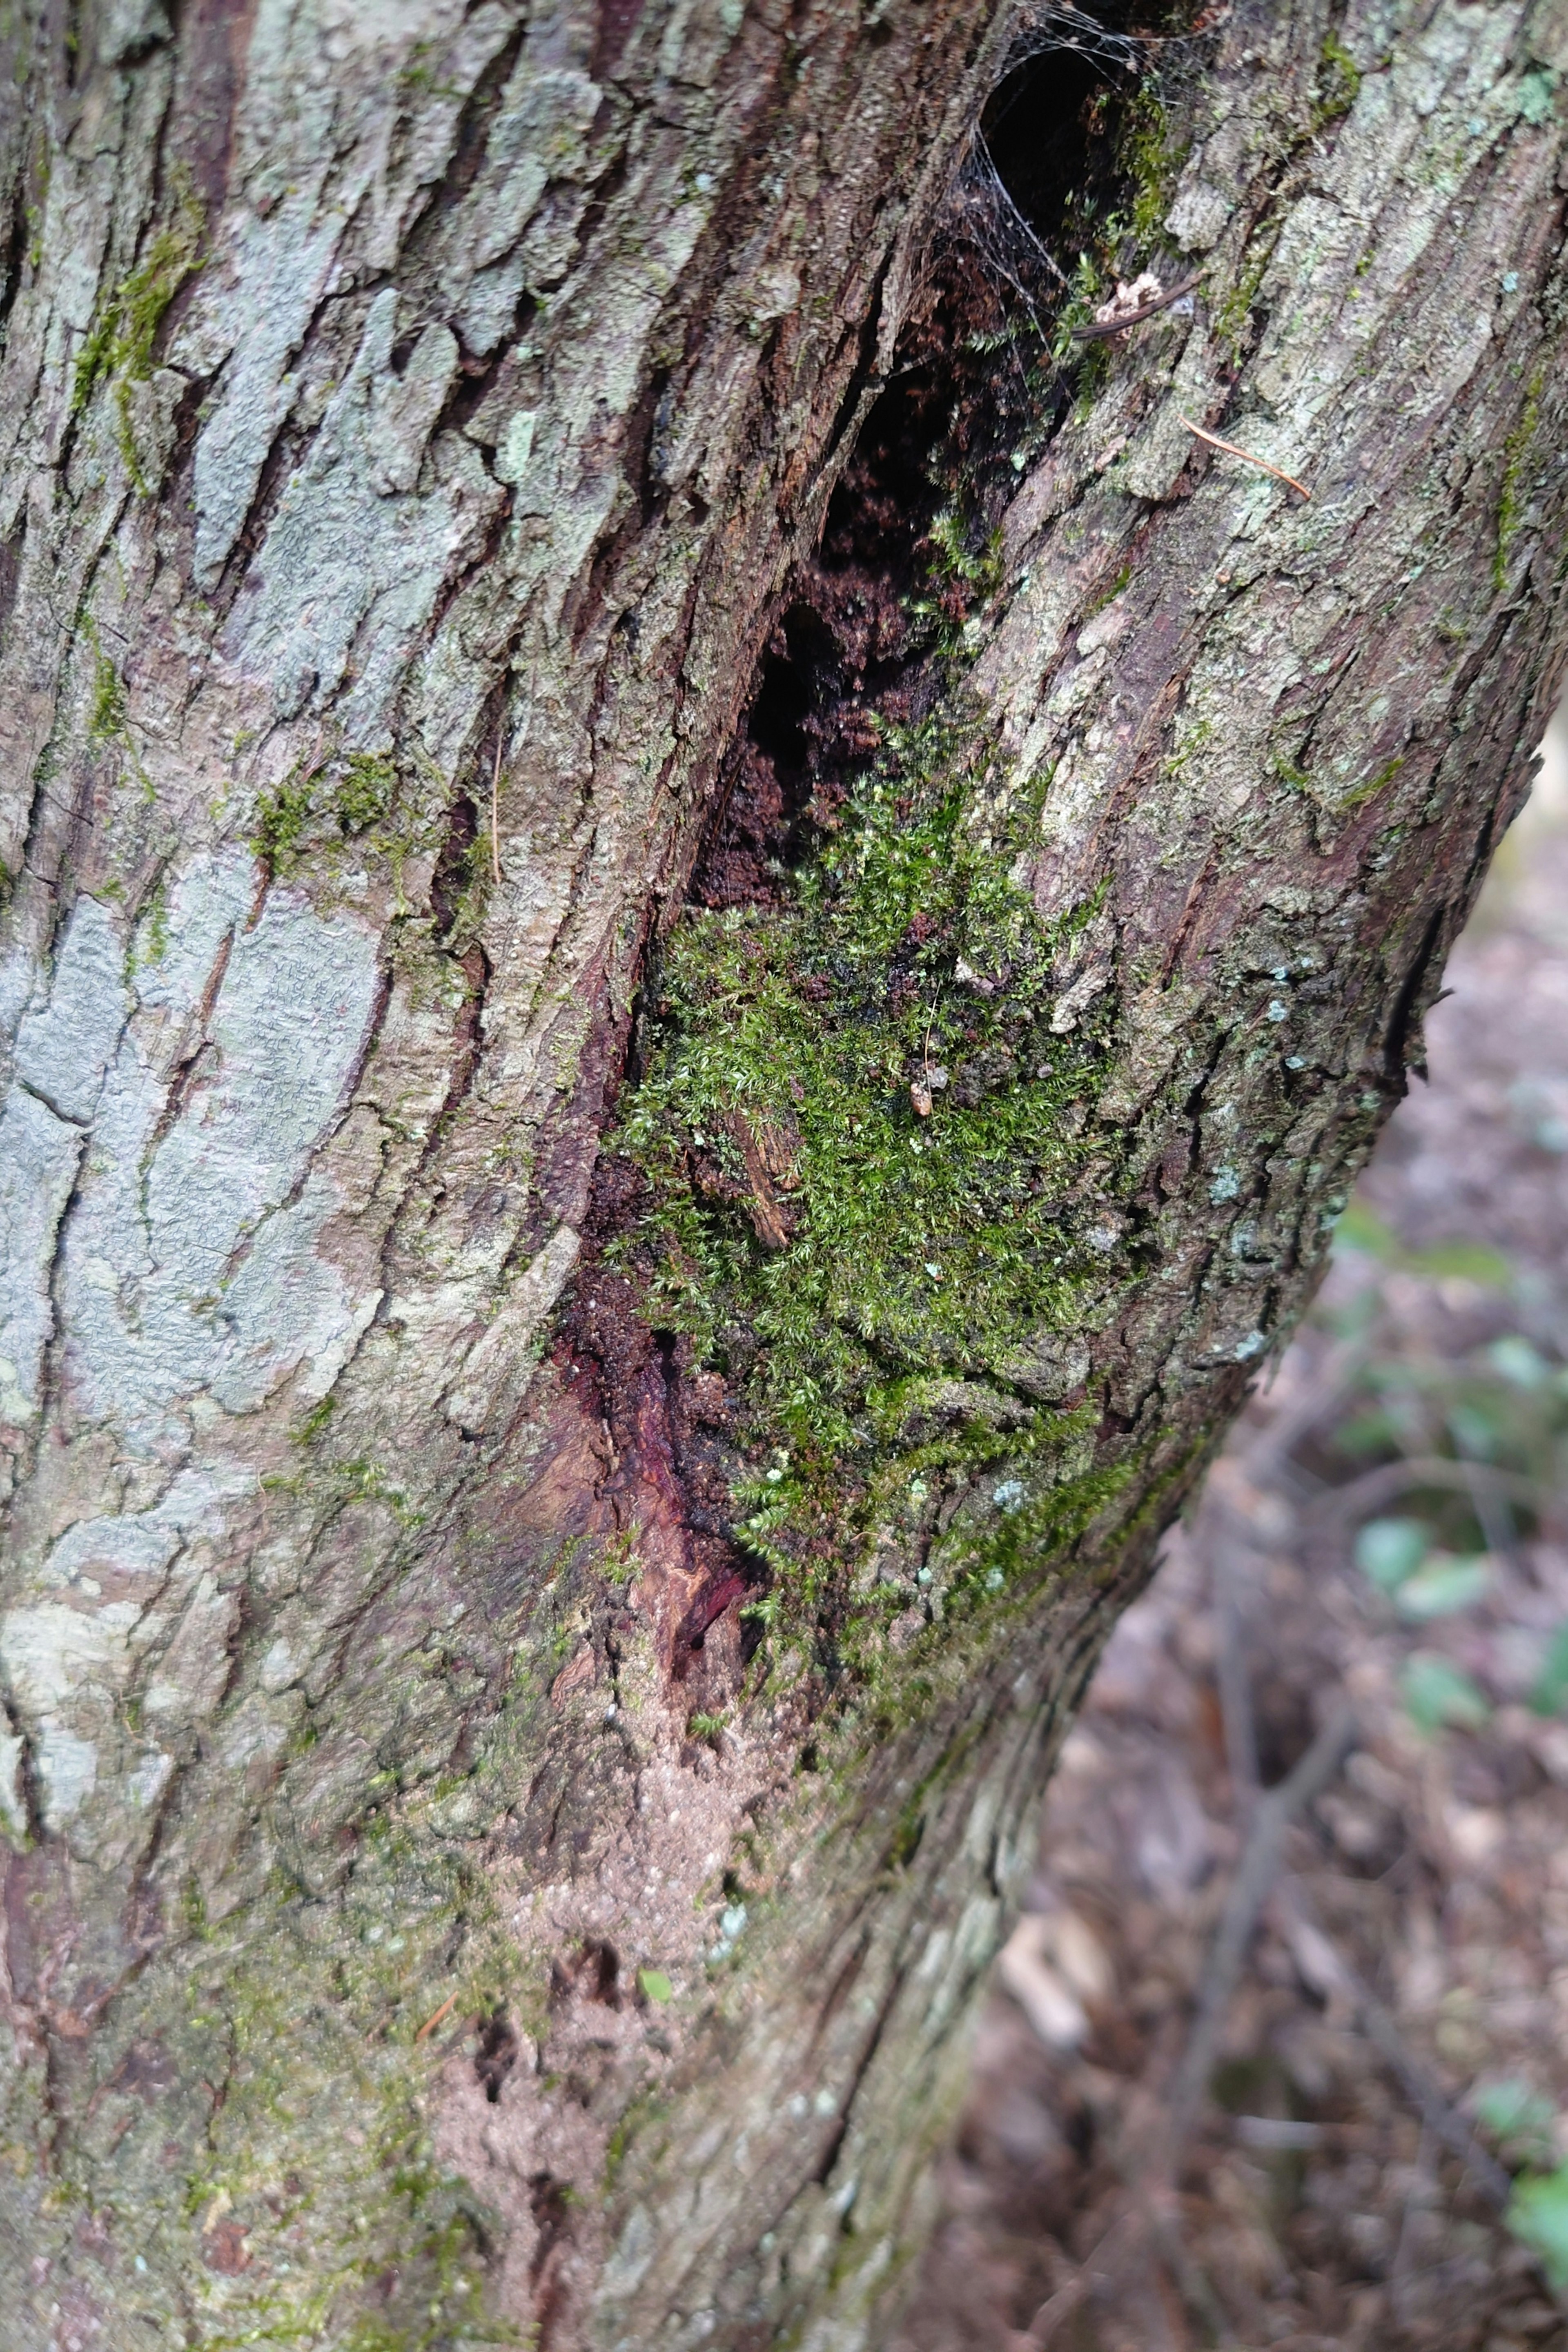
[{"label": "large bright green moss clump filling the trunk below the dark hollow", "polygon": [[[790,901],[686,910],[654,978],[611,1138],[646,1197],[609,1256],[743,1388],[773,1621],[856,1531],[924,1526],[929,1552],[943,1498],[1006,1463],[943,1538],[947,1588],[999,1590],[1088,1472],[1023,1357],[1114,1289],[1121,1169],[1084,1136],[1114,1000],[1098,898],[1041,924],[1013,880],[1037,809],[976,724],[889,729]],[[1103,1498],[1077,1491],[1074,1524]]]}]

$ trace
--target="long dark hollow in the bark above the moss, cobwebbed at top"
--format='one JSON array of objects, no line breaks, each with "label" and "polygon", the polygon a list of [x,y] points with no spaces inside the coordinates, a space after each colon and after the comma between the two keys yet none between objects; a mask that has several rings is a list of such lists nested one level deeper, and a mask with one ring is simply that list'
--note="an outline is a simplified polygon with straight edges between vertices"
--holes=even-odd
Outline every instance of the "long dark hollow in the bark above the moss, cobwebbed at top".
[{"label": "long dark hollow in the bark above the moss, cobwebbed at top", "polygon": [[693,866],[696,906],[776,901],[875,757],[872,713],[912,722],[938,691],[943,630],[980,600],[976,572],[1018,485],[1011,454],[1067,409],[1044,348],[1065,275],[1079,245],[1131,214],[1140,49],[1121,31],[1128,14],[1074,16],[1011,66],[985,108],[889,383],[757,666]]}]

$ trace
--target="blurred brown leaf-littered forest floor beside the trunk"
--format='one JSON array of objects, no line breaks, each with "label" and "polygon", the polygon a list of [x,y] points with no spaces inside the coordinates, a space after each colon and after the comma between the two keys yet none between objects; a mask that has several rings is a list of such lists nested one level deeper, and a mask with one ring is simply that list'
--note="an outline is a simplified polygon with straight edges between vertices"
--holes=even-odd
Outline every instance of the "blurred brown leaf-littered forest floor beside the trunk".
[{"label": "blurred brown leaf-littered forest floor beside the trunk", "polygon": [[1568,2347],[1554,760],[1067,1738],[891,2352]]}]

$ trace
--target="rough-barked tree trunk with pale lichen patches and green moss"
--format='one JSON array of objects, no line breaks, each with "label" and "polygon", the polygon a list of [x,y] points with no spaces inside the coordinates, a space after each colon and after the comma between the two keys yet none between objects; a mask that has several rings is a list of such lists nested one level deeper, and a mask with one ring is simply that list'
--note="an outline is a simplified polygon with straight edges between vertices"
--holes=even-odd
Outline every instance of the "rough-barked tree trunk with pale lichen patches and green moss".
[{"label": "rough-barked tree trunk with pale lichen patches and green moss", "polygon": [[1552,701],[1568,12],[0,45],[9,2343],[875,2347]]}]

